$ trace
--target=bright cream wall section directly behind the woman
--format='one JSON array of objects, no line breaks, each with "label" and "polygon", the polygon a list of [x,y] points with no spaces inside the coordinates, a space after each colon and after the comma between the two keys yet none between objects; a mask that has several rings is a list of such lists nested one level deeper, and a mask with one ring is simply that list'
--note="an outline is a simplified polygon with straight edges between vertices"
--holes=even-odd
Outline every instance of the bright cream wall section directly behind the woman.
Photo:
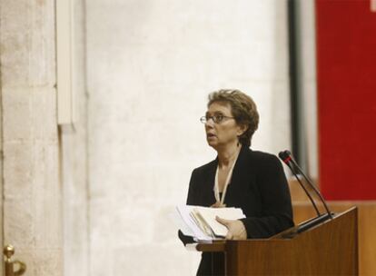
[{"label": "bright cream wall section directly behind the woman", "polygon": [[209,92],[252,95],[253,148],[289,148],[286,16],[281,0],[87,2],[91,275],[194,274],[169,214],[215,157]]}]

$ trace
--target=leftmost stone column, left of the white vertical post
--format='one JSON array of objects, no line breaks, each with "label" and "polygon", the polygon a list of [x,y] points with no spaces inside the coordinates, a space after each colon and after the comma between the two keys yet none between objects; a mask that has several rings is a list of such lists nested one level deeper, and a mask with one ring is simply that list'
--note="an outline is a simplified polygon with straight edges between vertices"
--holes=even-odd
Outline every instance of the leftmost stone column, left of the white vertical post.
[{"label": "leftmost stone column, left of the white vertical post", "polygon": [[26,275],[63,275],[54,1],[0,2],[4,242]]}]

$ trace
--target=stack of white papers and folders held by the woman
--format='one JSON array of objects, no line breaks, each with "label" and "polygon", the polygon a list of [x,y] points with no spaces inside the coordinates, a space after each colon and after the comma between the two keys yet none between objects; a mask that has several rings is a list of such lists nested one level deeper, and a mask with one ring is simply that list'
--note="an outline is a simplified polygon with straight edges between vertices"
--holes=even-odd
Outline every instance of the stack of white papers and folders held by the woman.
[{"label": "stack of white papers and folders held by the woman", "polygon": [[217,222],[218,216],[225,220],[245,218],[240,208],[211,208],[203,206],[179,205],[176,210],[181,219],[181,231],[186,236],[192,236],[196,242],[212,242],[222,240],[227,234],[227,228]]}]

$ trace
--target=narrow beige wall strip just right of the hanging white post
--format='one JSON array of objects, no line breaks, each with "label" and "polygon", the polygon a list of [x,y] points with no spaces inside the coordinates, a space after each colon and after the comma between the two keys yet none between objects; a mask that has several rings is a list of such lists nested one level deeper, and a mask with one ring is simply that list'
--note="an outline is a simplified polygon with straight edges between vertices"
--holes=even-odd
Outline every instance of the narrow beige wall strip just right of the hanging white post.
[{"label": "narrow beige wall strip just right of the hanging white post", "polygon": [[88,276],[89,204],[87,174],[87,94],[85,67],[85,6],[74,0],[73,93],[74,129],[63,127],[61,135],[64,198],[64,275]]}]

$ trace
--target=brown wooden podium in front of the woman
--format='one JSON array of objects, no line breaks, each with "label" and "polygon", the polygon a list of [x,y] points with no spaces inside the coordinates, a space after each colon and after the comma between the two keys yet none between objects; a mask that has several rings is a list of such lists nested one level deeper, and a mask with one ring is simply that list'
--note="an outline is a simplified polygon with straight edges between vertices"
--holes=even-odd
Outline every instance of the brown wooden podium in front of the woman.
[{"label": "brown wooden podium in front of the woman", "polygon": [[358,213],[352,207],[298,232],[264,240],[198,243],[197,251],[223,251],[225,275],[358,275]]}]

